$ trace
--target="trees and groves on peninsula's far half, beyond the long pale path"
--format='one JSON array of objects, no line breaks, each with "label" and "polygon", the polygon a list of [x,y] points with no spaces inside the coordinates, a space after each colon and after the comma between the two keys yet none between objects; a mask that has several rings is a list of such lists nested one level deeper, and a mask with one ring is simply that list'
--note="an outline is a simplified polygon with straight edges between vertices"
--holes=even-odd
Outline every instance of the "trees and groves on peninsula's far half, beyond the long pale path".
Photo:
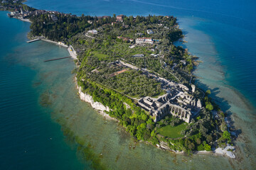
[{"label": "trees and groves on peninsula's far half, beyond the long pale path", "polygon": [[[32,16],[31,35],[41,36],[56,41],[64,41],[72,44],[79,52],[79,60],[83,61],[85,56],[97,57],[100,61],[113,62],[124,60],[139,68],[150,69],[157,72],[166,79],[188,83],[193,69],[193,57],[182,47],[176,47],[172,43],[182,38],[182,32],[176,28],[176,18],[164,16],[124,16],[124,26],[116,22],[114,17],[97,18],[92,16],[70,16],[59,13],[55,15],[58,21],[53,21],[49,15]],[[113,26],[111,23],[114,23]],[[87,33],[88,30],[96,29],[97,34]],[[147,34],[151,29],[154,34]],[[141,33],[142,35],[137,35]],[[154,45],[135,46],[135,39],[139,37],[153,38]],[[117,37],[132,40],[122,40]],[[85,53],[88,55],[84,55]],[[132,57],[143,54],[144,57]],[[153,57],[151,55],[158,55]],[[183,65],[180,61],[186,61]],[[177,67],[171,69],[173,64]],[[183,74],[186,72],[188,74]],[[170,74],[171,73],[171,74]],[[175,76],[175,77],[174,77]]]}]

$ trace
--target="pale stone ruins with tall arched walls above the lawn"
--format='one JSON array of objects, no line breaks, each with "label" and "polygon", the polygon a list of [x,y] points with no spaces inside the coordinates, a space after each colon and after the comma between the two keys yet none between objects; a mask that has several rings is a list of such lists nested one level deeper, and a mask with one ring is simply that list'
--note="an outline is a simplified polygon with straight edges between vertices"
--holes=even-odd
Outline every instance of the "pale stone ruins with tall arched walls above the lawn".
[{"label": "pale stone ruins with tall arched walls above the lawn", "polygon": [[157,99],[149,96],[141,98],[138,105],[153,116],[154,122],[171,114],[190,123],[191,118],[196,116],[202,108],[200,99],[177,89],[172,89],[168,94]]}]

